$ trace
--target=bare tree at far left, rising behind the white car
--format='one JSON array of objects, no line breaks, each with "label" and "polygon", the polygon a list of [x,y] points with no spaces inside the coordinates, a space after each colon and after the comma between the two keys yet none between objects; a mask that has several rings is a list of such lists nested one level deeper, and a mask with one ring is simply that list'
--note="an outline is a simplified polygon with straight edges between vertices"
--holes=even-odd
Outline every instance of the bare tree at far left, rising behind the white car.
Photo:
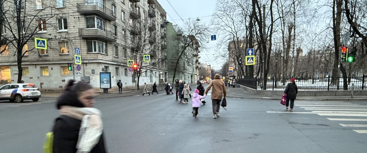
[{"label": "bare tree at far left, rising behind the white car", "polygon": [[[40,7],[38,10],[27,10],[28,5]],[[1,0],[0,1],[0,15],[2,31],[6,31],[6,35],[1,35],[1,45],[3,50],[0,54],[8,52],[8,46],[14,48],[16,51],[12,56],[17,57],[18,65],[18,83],[22,80],[22,58],[29,51],[34,48],[23,51],[23,47],[29,42],[33,41],[38,32],[52,28],[53,25],[48,21],[55,17],[55,14],[43,14],[44,11],[51,10],[53,6],[45,6],[43,3],[26,0]],[[40,14],[42,13],[42,18]],[[36,22],[37,21],[37,22]],[[37,24],[36,24],[37,23]],[[57,26],[53,26],[57,27]]]}]

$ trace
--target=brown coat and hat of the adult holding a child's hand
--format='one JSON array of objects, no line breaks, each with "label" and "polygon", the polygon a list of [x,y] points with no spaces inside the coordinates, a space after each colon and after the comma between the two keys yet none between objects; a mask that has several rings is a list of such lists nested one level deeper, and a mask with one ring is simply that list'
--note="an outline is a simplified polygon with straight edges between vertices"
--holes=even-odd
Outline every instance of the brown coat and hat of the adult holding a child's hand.
[{"label": "brown coat and hat of the adult holding a child's hand", "polygon": [[205,90],[205,95],[208,94],[211,87],[213,87],[211,91],[211,99],[222,99],[223,95],[226,97],[226,87],[219,74],[215,74],[214,80],[210,82],[208,88]]}]

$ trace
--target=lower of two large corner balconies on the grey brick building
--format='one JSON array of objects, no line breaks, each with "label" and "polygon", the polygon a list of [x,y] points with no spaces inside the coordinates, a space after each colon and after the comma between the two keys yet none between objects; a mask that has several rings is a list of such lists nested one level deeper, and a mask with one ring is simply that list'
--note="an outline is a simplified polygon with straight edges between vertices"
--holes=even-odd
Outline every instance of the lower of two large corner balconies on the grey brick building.
[{"label": "lower of two large corner balconies on the grey brick building", "polygon": [[113,32],[101,31],[99,29],[78,29],[79,37],[84,39],[101,39],[109,42],[116,42],[116,38]]}]

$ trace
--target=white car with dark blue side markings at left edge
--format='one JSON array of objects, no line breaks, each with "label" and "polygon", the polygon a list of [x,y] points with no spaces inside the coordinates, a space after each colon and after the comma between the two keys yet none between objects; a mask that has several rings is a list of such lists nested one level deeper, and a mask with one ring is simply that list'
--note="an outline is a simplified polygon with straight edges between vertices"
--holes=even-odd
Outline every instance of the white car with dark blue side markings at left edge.
[{"label": "white car with dark blue side markings at left edge", "polygon": [[37,102],[41,97],[41,92],[32,83],[13,83],[0,88],[0,100],[21,103],[24,99],[32,99]]}]

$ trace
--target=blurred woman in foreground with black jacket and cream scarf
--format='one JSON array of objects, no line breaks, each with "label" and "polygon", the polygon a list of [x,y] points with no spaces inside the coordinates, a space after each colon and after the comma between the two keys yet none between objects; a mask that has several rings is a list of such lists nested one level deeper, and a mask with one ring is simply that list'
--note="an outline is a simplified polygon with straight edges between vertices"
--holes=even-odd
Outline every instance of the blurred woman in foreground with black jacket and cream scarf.
[{"label": "blurred woman in foreground with black jacket and cream scarf", "polygon": [[56,102],[61,115],[52,128],[53,153],[107,152],[101,112],[93,108],[94,97],[94,89],[89,83],[70,80],[65,86]]}]

